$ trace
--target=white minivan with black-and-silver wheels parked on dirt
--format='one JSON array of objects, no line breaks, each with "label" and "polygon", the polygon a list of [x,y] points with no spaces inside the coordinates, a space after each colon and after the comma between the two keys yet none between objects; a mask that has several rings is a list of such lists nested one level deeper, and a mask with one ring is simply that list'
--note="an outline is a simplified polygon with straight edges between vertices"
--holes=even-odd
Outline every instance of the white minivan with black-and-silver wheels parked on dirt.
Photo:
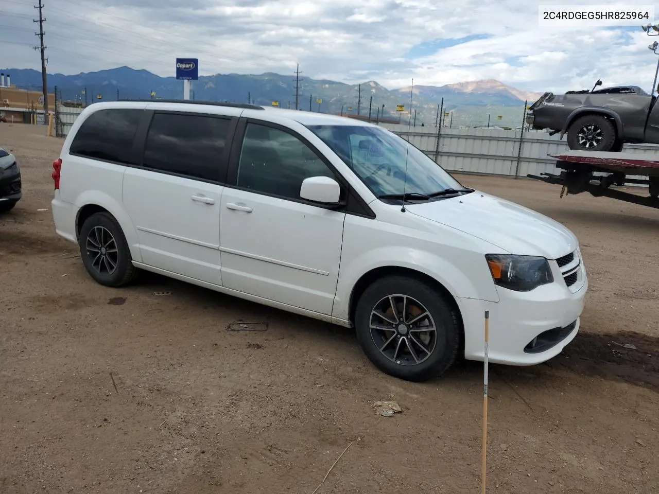
[{"label": "white minivan with black-and-silver wheels parked on dirt", "polygon": [[354,327],[411,381],[458,356],[525,366],[579,331],[575,235],[465,188],[422,151],[358,121],[256,105],[87,107],[53,163],[55,229],[90,276],[138,269]]}]

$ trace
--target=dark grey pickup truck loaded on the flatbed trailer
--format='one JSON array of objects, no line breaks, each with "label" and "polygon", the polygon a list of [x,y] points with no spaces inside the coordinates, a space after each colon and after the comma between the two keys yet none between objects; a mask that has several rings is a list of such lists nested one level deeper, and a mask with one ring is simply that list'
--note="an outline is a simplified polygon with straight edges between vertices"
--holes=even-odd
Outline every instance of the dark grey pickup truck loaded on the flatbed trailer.
[{"label": "dark grey pickup truck loaded on the flatbed trailer", "polygon": [[560,132],[561,139],[567,134],[572,150],[621,151],[624,143],[659,144],[655,102],[656,96],[638,86],[546,92],[530,106],[527,123]]}]

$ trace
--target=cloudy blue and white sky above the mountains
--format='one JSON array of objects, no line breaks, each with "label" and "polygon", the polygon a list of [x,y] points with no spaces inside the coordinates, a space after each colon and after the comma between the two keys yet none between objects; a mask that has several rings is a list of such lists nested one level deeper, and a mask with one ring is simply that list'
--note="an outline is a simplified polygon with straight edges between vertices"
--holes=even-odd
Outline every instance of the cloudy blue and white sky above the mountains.
[{"label": "cloudy blue and white sky above the mountains", "polygon": [[[498,79],[544,92],[638,84],[657,38],[637,27],[539,26],[538,0],[44,0],[48,72],[293,74],[387,88]],[[36,0],[38,2],[38,0]],[[652,5],[635,2],[633,5]],[[629,0],[580,5],[631,5]],[[35,1],[0,0],[0,67],[40,69]],[[571,3],[575,5],[575,3]],[[659,5],[656,7],[659,14]],[[650,19],[653,22],[654,19]]]}]

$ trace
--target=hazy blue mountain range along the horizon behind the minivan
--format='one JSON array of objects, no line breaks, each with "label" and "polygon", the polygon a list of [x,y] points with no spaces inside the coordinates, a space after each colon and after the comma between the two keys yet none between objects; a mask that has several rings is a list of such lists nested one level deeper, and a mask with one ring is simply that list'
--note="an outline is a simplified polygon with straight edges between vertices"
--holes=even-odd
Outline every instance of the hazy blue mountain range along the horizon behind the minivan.
[{"label": "hazy blue mountain range along the horizon behind the minivan", "polygon": [[[41,72],[38,70],[0,69],[0,72],[11,74],[11,82],[17,88],[41,88]],[[84,101],[85,98],[88,103],[117,98],[148,99],[152,97],[152,92],[156,98],[183,97],[183,81],[125,66],[75,75],[48,74],[47,82],[49,92],[57,86],[61,99],[69,101]],[[368,115],[370,106],[374,119],[382,111],[387,118],[399,119],[401,123],[408,123],[416,117],[416,125],[434,125],[444,98],[445,111],[453,111],[453,115],[445,117],[447,123],[451,119],[452,125],[484,125],[491,115],[491,124],[519,126],[523,119],[524,101],[530,104],[541,95],[517,90],[492,79],[389,90],[373,80],[345,84],[300,77],[296,83],[293,75],[266,72],[200,76],[199,80],[192,81],[191,97],[257,105],[271,105],[273,101],[278,101],[280,107],[295,108],[296,84],[299,109]],[[99,95],[101,99],[98,99]],[[409,113],[410,97],[414,109],[412,115]],[[317,99],[321,99],[321,103],[317,103]],[[404,111],[397,112],[397,105],[403,105]],[[501,119],[497,119],[498,116]]]}]

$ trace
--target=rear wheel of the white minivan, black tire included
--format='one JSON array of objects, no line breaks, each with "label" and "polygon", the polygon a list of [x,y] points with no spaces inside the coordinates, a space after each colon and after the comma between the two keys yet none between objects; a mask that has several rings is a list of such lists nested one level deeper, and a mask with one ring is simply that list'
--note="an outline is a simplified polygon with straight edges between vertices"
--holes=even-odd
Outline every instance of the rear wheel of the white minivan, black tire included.
[{"label": "rear wheel of the white minivan, black tire included", "polygon": [[[128,242],[119,223],[110,213],[94,213],[84,221],[78,246],[82,263],[96,283],[106,287],[121,287],[134,278],[137,269],[132,265]],[[101,252],[103,247],[107,249],[103,251],[105,255]],[[115,249],[116,252],[113,252]]]}]

